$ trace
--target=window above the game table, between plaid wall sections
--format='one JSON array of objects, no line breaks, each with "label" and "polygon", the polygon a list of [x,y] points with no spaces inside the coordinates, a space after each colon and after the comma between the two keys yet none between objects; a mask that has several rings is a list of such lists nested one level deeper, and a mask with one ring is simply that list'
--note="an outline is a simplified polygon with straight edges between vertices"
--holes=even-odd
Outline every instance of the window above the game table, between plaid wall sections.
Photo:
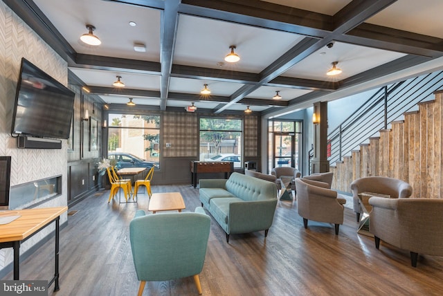
[{"label": "window above the game table, between plaid wall sections", "polygon": [[233,161],[242,167],[242,120],[200,118],[199,160]]}]

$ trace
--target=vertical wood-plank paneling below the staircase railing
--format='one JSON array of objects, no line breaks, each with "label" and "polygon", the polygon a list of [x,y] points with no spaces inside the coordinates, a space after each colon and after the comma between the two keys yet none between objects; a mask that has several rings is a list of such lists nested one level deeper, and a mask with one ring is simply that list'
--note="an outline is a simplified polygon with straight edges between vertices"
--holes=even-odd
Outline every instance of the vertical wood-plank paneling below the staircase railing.
[{"label": "vertical wood-plank paneling below the staircase railing", "polygon": [[356,178],[388,176],[408,182],[413,197],[443,198],[442,118],[443,91],[436,91],[435,100],[420,102],[418,111],[404,113],[404,120],[336,161],[332,187],[351,193]]}]

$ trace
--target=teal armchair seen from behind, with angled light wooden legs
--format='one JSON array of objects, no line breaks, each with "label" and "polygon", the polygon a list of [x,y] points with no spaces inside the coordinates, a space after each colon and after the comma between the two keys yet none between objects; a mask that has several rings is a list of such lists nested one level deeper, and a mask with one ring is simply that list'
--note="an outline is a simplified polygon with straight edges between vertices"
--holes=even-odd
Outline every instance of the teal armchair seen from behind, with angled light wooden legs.
[{"label": "teal armchair seen from behind, with angled light wooden legs", "polygon": [[129,224],[132,257],[138,280],[138,295],[146,281],[194,277],[199,294],[199,273],[208,246],[210,217],[202,207],[195,212],[145,215],[138,210]]}]

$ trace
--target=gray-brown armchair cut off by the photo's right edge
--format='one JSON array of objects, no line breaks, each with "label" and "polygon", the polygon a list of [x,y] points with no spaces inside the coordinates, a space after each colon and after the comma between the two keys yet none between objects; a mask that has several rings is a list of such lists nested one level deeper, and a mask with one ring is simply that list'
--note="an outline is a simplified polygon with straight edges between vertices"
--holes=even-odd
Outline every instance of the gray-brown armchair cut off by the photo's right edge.
[{"label": "gray-brown armchair cut off by the photo's right edge", "polygon": [[408,250],[413,267],[419,253],[443,256],[443,199],[371,197],[369,203],[375,248],[382,240]]}]

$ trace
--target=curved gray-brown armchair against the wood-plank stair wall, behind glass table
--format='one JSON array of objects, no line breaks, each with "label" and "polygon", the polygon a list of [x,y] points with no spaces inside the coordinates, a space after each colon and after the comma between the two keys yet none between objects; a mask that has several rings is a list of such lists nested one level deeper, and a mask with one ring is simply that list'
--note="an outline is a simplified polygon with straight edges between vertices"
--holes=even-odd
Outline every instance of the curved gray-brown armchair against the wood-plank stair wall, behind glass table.
[{"label": "curved gray-brown armchair against the wood-plank stair wall, behind glass table", "polygon": [[383,176],[372,176],[356,179],[351,183],[352,199],[354,201],[354,212],[357,222],[363,209],[360,205],[359,193],[373,192],[389,195],[390,198],[408,198],[413,193],[413,188],[405,181]]}]

